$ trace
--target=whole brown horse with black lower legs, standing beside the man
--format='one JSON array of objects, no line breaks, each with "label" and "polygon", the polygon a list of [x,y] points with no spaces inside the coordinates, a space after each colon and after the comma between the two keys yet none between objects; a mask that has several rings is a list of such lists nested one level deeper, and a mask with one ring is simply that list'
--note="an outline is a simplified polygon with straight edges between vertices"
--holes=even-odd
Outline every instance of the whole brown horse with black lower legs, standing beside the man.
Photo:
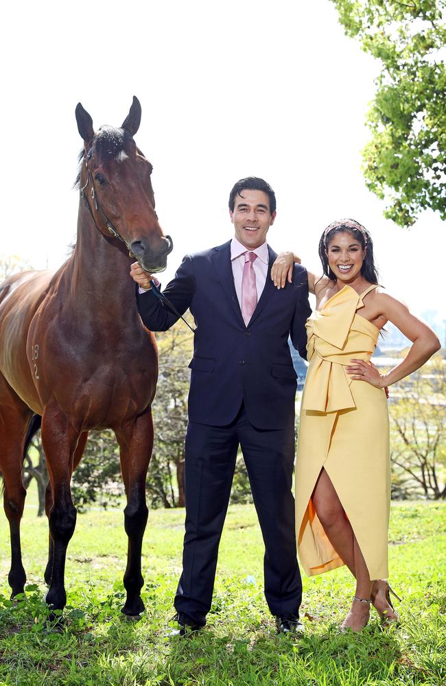
[{"label": "whole brown horse with black lower legs, standing beside the man", "polygon": [[8,580],[12,596],[23,593],[21,467],[40,417],[50,475],[45,580],[47,603],[54,609],[67,602],[65,556],[76,521],[71,474],[88,431],[110,428],[119,443],[127,497],[122,611],[136,616],[144,609],[141,546],[158,360],[153,334],[137,311],[129,251],[143,268],[159,272],[172,240],[163,236],[155,213],[152,165],[133,140],[141,120],[137,98],[121,128],[102,126],[95,133],[80,103],[75,115],[84,148],[73,253],[56,274],[25,272],[0,287],[0,472],[11,532]]}]

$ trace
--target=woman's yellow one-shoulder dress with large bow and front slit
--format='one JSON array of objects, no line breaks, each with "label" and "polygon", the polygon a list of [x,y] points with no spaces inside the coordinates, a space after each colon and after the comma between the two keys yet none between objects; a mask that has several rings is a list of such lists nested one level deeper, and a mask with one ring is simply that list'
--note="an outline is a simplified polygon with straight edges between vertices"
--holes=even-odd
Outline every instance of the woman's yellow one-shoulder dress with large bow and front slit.
[{"label": "woman's yellow one-shoulder dress with large bow and front slit", "polygon": [[390,509],[386,393],[353,380],[352,357],[369,360],[379,329],[357,314],[362,298],[344,286],[307,320],[309,367],[296,458],[296,536],[308,576],[344,565],[322,529],[312,493],[325,469],[342,503],[371,579],[388,576]]}]

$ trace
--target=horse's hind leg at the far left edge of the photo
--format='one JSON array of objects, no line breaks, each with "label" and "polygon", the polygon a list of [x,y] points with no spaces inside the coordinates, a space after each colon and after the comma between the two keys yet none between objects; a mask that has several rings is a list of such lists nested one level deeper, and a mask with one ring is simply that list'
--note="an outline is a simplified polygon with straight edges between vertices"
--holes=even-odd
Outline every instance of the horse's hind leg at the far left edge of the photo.
[{"label": "horse's hind leg at the far left edge of the photo", "polygon": [[11,569],[8,582],[11,597],[23,593],[26,574],[22,564],[20,522],[26,490],[22,482],[23,446],[32,412],[3,379],[0,381],[0,472],[3,475],[3,506],[10,525]]}]

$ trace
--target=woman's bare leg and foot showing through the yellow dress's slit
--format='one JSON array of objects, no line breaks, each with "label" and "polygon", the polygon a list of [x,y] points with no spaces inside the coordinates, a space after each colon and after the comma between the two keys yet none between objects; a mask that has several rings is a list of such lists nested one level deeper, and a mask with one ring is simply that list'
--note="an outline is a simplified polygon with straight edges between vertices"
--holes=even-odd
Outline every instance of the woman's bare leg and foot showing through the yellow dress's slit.
[{"label": "woman's bare leg and foot showing through the yellow dress's slit", "polygon": [[[322,469],[316,482],[312,501],[322,527],[340,558],[349,567],[356,579],[355,598],[370,600],[372,582],[364,556],[347,519],[344,508],[331,483],[329,475]],[[351,610],[342,626],[360,631],[368,622],[369,603],[353,600]]]}]

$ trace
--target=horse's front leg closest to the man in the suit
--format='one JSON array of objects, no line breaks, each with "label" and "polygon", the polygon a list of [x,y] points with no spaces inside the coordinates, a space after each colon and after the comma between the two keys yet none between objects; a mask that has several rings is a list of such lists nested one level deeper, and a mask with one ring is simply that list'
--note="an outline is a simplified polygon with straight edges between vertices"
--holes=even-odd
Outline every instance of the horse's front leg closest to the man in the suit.
[{"label": "horse's front leg closest to the man in the suit", "polygon": [[141,588],[144,583],[141,574],[141,549],[148,518],[145,478],[153,447],[150,410],[115,429],[115,434],[119,442],[121,473],[127,497],[127,506],[124,510],[124,525],[128,536],[127,567],[124,573],[127,598],[122,612],[129,617],[137,617],[144,611],[141,600]]}]

